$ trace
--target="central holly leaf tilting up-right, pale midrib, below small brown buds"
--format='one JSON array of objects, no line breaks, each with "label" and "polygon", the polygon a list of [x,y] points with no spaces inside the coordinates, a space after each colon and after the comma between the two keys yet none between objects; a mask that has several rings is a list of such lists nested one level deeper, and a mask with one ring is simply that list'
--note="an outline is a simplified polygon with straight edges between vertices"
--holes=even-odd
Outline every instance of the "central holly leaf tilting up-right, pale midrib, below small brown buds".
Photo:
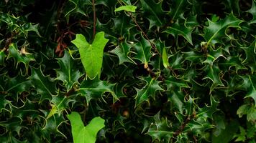
[{"label": "central holly leaf tilting up-right, pale midrib, below small brown buds", "polygon": [[146,77],[145,79],[142,79],[142,80],[146,82],[146,85],[142,89],[136,89],[137,95],[135,97],[136,99],[135,107],[137,107],[142,102],[147,101],[150,96],[155,96],[155,92],[157,90],[163,90],[159,86],[160,82],[152,77]]}]

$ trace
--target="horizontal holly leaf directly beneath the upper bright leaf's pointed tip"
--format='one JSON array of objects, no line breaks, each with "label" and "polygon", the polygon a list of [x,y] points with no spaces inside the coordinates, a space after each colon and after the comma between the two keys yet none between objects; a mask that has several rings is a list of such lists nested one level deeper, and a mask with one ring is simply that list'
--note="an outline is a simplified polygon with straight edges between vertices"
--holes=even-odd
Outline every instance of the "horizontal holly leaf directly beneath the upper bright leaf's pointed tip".
[{"label": "horizontal holly leaf directly beneath the upper bright leaf's pointed tip", "polygon": [[99,79],[85,80],[81,83],[78,93],[86,97],[87,104],[91,99],[101,98],[102,94],[109,92],[112,94],[114,99],[118,99],[114,93],[114,85],[106,81],[101,81]]}]

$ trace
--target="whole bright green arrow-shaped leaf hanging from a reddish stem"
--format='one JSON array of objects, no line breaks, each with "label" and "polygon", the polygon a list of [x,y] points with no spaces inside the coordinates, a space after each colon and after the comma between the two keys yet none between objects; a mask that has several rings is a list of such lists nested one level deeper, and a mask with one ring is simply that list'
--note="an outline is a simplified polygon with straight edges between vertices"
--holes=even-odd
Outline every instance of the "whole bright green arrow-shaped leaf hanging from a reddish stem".
[{"label": "whole bright green arrow-shaped leaf hanging from a reddish stem", "polygon": [[104,47],[108,41],[109,39],[104,38],[103,31],[95,35],[92,44],[89,44],[82,34],[76,34],[76,39],[71,41],[78,47],[82,64],[90,79],[94,79],[97,75],[98,77],[101,76]]}]

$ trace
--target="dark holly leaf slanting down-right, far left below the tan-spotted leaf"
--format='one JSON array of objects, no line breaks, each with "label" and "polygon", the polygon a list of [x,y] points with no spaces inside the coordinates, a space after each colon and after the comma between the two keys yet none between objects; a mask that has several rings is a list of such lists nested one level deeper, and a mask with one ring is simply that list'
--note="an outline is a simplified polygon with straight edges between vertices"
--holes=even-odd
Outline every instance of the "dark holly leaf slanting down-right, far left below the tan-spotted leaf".
[{"label": "dark holly leaf slanting down-right, far left below the tan-spotted leaf", "polygon": [[57,95],[56,82],[50,80],[49,76],[42,74],[41,68],[31,67],[31,76],[29,79],[32,80],[37,90],[37,94],[41,95],[40,102],[43,99],[51,99],[52,96]]}]

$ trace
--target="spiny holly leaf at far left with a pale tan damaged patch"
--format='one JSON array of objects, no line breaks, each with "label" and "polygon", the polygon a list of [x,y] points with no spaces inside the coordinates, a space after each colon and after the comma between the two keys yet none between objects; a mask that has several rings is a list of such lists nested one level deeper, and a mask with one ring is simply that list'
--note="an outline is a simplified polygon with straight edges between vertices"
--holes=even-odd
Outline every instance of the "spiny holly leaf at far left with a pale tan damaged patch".
[{"label": "spiny holly leaf at far left with a pale tan damaged patch", "polygon": [[29,68],[29,61],[35,61],[35,58],[30,53],[22,53],[22,51],[19,51],[17,48],[17,44],[10,44],[9,46],[9,54],[7,56],[7,59],[14,58],[17,62],[17,66],[19,63],[23,63],[26,67],[26,71]]}]

